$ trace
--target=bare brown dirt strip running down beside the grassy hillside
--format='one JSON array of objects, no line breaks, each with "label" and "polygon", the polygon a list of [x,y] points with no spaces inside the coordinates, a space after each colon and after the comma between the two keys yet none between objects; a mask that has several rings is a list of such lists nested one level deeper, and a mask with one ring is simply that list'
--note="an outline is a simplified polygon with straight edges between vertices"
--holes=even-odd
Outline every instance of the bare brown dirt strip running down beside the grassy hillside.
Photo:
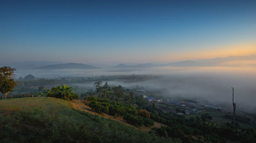
[{"label": "bare brown dirt strip running down beside the grassy hillside", "polygon": [[[130,125],[130,124],[126,123],[121,116],[116,116],[115,117],[115,116],[107,115],[105,113],[97,113],[97,112],[93,111],[86,104],[83,104],[83,102],[81,100],[72,100],[72,101],[70,101],[70,104],[71,104],[71,107],[73,107],[75,109],[86,111],[86,112],[92,113],[94,115],[98,115],[100,117],[103,117],[103,118],[107,118],[107,119],[110,119],[110,120],[113,120],[113,121],[117,121],[117,122],[120,122],[122,124],[125,124],[126,126],[133,126],[133,125]],[[160,128],[161,126],[166,126],[166,125],[163,125],[163,124],[158,123],[158,122],[154,122],[154,124],[155,125],[153,127],[136,127],[136,128],[140,129],[142,131],[150,131],[154,127]]]}]

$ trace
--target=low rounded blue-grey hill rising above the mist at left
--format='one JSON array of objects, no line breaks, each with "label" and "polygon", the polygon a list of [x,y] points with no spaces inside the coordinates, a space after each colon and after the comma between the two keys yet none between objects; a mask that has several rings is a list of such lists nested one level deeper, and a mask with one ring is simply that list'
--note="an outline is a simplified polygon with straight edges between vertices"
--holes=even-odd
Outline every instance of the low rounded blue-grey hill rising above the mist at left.
[{"label": "low rounded blue-grey hill rising above the mist at left", "polygon": [[42,66],[36,69],[99,69],[98,67],[86,65],[86,64],[77,64],[77,63],[68,63],[68,64],[57,64],[57,65],[48,65]]}]

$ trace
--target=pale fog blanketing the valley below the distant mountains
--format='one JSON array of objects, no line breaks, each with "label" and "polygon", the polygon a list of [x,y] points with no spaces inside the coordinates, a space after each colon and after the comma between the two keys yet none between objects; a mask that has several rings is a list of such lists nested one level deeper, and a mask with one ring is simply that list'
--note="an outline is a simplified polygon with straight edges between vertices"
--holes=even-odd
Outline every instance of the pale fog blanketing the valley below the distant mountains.
[{"label": "pale fog blanketing the valley below the distant mountains", "polygon": [[[17,70],[16,78],[32,74],[37,78],[101,75],[157,75],[143,80],[115,79],[110,85],[135,86],[159,91],[160,96],[184,97],[231,105],[231,86],[238,110],[256,112],[256,67],[151,67],[144,69]],[[93,82],[72,83],[93,89]]]}]

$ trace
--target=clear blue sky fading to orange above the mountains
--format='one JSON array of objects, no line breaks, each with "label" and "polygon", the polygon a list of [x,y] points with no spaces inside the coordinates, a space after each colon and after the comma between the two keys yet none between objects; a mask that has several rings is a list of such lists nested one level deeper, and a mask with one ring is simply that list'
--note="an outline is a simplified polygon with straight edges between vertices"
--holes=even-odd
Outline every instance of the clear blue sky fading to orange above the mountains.
[{"label": "clear blue sky fading to orange above the mountains", "polygon": [[0,63],[256,54],[256,1],[0,1]]}]

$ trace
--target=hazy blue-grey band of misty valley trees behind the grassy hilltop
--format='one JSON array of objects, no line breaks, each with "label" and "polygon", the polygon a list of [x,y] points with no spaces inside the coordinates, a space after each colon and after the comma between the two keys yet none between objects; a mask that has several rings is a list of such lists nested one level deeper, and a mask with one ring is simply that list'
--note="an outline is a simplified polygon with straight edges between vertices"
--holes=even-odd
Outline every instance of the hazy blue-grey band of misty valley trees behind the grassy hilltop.
[{"label": "hazy blue-grey band of misty valley trees behind the grassy hilltop", "polygon": [[[32,77],[32,76],[31,76]],[[35,87],[52,87],[58,86],[60,84],[68,84],[72,85],[74,88],[74,92],[79,94],[80,96],[84,93],[90,94],[93,93],[94,90],[91,88],[78,87],[75,84],[88,84],[94,83],[95,81],[110,81],[110,80],[122,80],[125,82],[138,82],[148,79],[154,79],[159,76],[153,75],[111,75],[111,76],[91,76],[91,77],[81,77],[81,76],[71,76],[71,77],[57,77],[57,78],[23,78],[20,77],[16,79],[19,84],[16,85],[13,92],[11,93],[13,96],[19,96],[19,94],[32,94],[37,92],[38,90]],[[75,83],[75,84],[74,84]],[[84,96],[84,95],[83,95]]]}]

